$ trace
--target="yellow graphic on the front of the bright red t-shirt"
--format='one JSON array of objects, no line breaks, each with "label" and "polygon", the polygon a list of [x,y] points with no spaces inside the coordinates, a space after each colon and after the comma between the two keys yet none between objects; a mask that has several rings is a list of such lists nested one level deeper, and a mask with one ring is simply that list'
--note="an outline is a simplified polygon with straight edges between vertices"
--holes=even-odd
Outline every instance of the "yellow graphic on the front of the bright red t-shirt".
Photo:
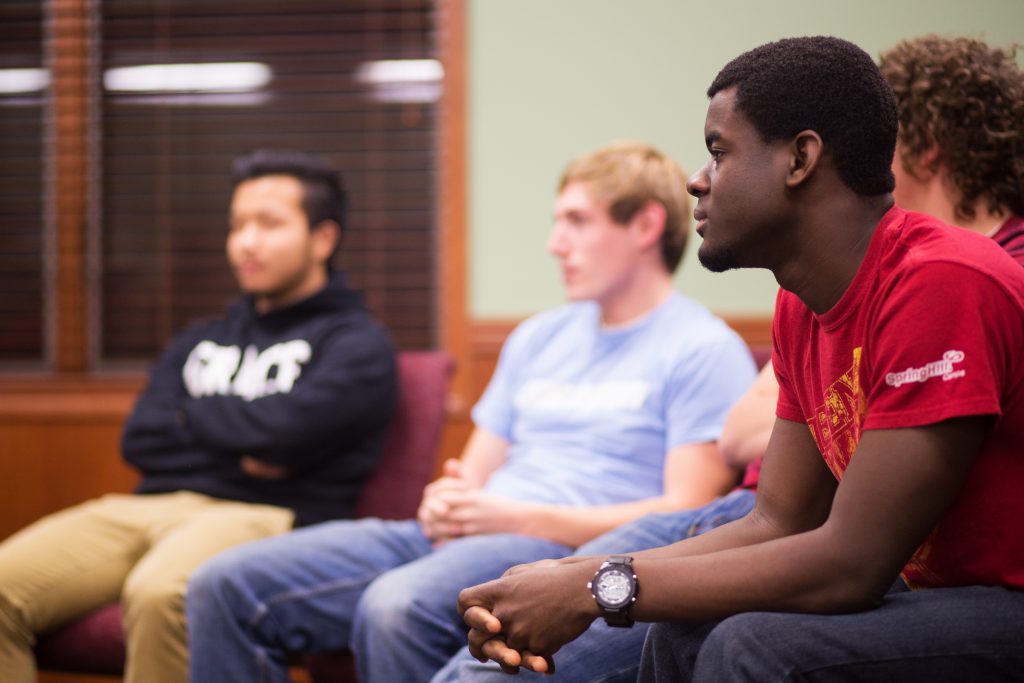
[{"label": "yellow graphic on the front of the bright red t-shirt", "polygon": [[867,400],[860,387],[860,346],[853,349],[850,370],[825,388],[824,402],[808,420],[818,451],[837,479],[842,478],[857,450],[867,410]]}]

